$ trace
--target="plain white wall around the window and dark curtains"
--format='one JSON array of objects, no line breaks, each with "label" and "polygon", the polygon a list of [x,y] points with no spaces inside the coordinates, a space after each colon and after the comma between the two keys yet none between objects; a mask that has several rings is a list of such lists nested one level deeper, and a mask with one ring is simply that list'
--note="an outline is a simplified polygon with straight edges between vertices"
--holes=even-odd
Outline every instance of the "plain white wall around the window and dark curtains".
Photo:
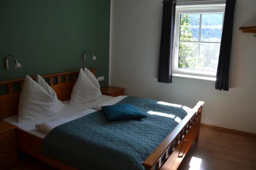
[{"label": "plain white wall around the window and dark curtains", "polygon": [[237,0],[230,63],[230,89],[215,82],[173,78],[157,82],[162,0],[112,0],[111,80],[127,95],[193,107],[205,101],[205,124],[256,133],[256,39],[240,26],[256,25],[256,1]]}]

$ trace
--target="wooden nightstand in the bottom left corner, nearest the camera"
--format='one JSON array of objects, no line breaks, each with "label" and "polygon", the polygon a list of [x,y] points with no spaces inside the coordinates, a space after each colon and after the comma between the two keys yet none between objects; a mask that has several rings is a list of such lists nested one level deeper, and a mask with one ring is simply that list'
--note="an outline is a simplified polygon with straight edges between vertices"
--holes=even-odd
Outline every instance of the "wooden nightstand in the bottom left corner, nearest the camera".
[{"label": "wooden nightstand in the bottom left corner, nearest the camera", "polygon": [[0,120],[0,169],[18,163],[16,129],[16,126]]}]

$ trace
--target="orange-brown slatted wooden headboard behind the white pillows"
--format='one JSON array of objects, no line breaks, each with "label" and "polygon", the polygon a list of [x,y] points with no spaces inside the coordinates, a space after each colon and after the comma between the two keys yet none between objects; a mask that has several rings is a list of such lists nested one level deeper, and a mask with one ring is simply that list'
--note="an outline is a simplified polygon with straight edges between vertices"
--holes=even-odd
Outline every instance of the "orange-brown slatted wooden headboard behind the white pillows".
[{"label": "orange-brown slatted wooden headboard behind the white pillows", "polygon": [[[90,68],[95,75],[95,69]],[[79,71],[62,72],[59,74],[42,76],[47,80],[50,86],[54,89],[60,101],[70,100],[70,95],[73,86],[76,82]],[[36,79],[36,77],[32,77]],[[20,91],[14,91],[14,84],[19,84],[22,89],[25,79],[16,79],[5,82],[0,82],[0,86],[8,86],[7,94],[0,95],[0,119],[18,114],[18,100]]]}]

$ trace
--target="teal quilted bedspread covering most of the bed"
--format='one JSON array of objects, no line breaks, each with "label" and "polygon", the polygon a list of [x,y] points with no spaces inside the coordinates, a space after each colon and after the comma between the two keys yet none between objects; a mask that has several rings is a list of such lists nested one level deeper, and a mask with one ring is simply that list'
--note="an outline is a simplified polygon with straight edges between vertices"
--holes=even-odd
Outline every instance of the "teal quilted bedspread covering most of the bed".
[{"label": "teal quilted bedspread covering most of the bed", "polygon": [[108,122],[96,111],[54,128],[42,154],[78,169],[144,169],[142,162],[187,115],[180,107],[133,96],[118,104],[134,105],[147,117]]}]

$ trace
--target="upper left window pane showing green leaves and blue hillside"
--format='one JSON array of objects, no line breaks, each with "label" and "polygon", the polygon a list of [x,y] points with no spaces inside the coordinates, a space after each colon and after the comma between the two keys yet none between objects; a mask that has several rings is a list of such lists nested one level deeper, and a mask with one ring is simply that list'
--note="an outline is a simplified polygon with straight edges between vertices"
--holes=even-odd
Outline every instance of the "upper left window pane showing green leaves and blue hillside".
[{"label": "upper left window pane showing green leaves and blue hillside", "polygon": [[199,40],[200,14],[180,15],[180,41]]}]

